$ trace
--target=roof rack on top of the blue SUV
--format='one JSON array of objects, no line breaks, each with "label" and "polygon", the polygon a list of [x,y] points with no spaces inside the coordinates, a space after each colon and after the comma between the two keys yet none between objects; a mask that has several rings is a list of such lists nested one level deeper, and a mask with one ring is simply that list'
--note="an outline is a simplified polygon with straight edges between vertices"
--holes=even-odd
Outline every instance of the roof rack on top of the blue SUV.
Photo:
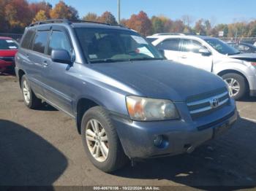
[{"label": "roof rack on top of the blue SUV", "polygon": [[39,26],[39,25],[43,25],[43,24],[48,24],[48,23],[67,23],[67,24],[72,24],[72,23],[95,23],[95,24],[102,24],[102,25],[106,25],[106,26],[120,26],[120,27],[124,27],[121,25],[110,25],[108,23],[100,23],[97,21],[89,21],[89,20],[68,20],[68,19],[49,19],[49,20],[42,20],[42,21],[38,21],[35,23],[31,23],[29,26]]}]

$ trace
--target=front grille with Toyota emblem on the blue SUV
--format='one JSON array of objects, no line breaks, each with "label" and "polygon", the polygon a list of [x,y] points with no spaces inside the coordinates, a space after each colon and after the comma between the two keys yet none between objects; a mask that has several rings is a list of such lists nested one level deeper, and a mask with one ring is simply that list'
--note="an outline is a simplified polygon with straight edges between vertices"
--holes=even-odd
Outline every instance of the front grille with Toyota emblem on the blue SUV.
[{"label": "front grille with Toyota emblem on the blue SUV", "polygon": [[[211,101],[217,101],[217,106],[216,103],[211,104]],[[193,120],[211,114],[229,103],[230,97],[226,88],[187,98],[187,107]]]}]

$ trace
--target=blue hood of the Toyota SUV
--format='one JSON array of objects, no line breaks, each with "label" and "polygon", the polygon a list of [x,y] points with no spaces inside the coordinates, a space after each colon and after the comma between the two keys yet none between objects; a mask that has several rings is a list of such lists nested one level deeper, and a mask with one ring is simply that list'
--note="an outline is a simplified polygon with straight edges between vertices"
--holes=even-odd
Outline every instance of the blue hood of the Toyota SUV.
[{"label": "blue hood of the Toyota SUV", "polygon": [[225,87],[220,77],[208,71],[172,61],[97,63],[91,68],[149,98],[186,101],[191,95]]}]

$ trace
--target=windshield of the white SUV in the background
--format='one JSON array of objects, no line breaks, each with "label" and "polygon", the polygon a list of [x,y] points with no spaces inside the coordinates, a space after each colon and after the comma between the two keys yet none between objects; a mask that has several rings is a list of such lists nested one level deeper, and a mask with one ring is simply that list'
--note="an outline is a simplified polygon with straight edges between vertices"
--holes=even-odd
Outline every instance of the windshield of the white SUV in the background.
[{"label": "windshield of the white SUV in the background", "polygon": [[205,41],[222,55],[237,55],[240,53],[236,48],[231,47],[219,39],[205,39]]}]

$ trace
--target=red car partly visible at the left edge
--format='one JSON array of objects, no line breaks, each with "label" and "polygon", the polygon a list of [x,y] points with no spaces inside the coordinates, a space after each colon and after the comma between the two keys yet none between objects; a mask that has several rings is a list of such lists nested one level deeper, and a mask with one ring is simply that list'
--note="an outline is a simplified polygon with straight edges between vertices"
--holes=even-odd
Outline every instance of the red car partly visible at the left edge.
[{"label": "red car partly visible at the left edge", "polygon": [[0,36],[0,72],[8,68],[14,69],[17,51],[18,43],[14,39]]}]

